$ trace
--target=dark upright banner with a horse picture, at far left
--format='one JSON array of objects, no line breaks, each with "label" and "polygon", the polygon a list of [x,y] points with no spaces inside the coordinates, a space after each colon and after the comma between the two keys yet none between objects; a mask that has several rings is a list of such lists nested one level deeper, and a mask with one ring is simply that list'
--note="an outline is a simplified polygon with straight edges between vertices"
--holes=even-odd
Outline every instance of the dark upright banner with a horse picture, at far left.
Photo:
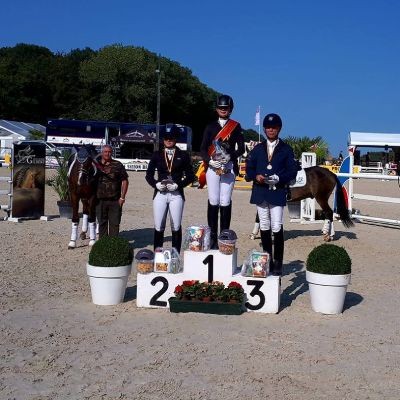
[{"label": "dark upright banner with a horse picture, at far left", "polygon": [[44,214],[46,145],[14,143],[13,218],[40,218]]}]

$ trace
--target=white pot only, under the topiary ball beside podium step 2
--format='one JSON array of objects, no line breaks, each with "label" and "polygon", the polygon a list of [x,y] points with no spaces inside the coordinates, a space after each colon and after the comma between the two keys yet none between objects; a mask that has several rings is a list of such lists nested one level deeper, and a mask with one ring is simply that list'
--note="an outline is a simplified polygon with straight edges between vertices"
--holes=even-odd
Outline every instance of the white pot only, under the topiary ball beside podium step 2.
[{"label": "white pot only, under the topiary ball beside podium step 2", "polygon": [[95,267],[86,264],[94,304],[109,306],[122,303],[132,264],[121,267]]}]

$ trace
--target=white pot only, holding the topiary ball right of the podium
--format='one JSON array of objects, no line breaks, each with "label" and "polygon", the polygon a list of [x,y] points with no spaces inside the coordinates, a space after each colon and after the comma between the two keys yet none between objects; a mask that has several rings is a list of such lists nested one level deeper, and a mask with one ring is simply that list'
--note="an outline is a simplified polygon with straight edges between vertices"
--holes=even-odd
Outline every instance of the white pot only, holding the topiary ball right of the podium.
[{"label": "white pot only, holding the topiary ball right of the podium", "polygon": [[340,314],[350,277],[351,274],[327,275],[306,271],[312,309],[322,314]]}]

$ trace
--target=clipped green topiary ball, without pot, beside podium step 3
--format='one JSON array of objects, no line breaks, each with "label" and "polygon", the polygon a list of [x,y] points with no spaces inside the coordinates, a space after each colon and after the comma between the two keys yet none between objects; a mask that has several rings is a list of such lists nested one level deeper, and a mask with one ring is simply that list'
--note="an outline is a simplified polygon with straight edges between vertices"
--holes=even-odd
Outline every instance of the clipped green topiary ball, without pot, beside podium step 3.
[{"label": "clipped green topiary ball, without pot, beside podium step 3", "polygon": [[307,270],[319,274],[346,275],[351,273],[351,259],[343,247],[325,243],[310,252]]}]

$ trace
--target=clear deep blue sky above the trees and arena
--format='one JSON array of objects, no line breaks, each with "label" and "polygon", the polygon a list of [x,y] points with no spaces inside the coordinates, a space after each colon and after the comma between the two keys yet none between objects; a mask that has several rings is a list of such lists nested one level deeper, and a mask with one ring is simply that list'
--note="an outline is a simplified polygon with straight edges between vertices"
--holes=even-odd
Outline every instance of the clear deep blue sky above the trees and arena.
[{"label": "clear deep blue sky above the trees and arena", "polygon": [[349,131],[400,132],[397,0],[13,0],[1,9],[0,47],[142,46],[230,94],[244,128],[258,129],[260,105],[262,117],[281,115],[282,138],[322,136],[334,156]]}]

